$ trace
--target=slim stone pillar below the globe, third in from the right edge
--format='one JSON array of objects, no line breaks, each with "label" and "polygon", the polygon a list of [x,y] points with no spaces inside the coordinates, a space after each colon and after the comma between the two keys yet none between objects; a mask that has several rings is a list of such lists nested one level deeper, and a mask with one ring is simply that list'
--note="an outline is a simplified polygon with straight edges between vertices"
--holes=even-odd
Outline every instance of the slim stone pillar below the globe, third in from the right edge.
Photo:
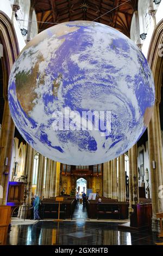
[{"label": "slim stone pillar below the globe, third in from the right edge", "polygon": [[118,201],[126,202],[124,155],[118,157]]}]

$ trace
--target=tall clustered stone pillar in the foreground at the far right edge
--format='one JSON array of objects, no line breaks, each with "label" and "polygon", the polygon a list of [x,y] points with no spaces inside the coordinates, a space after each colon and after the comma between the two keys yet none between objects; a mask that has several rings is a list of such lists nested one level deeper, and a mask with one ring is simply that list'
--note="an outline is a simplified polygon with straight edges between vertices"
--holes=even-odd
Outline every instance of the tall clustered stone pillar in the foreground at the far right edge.
[{"label": "tall clustered stone pillar in the foreground at the far right edge", "polygon": [[[163,185],[163,169],[162,169],[162,145],[161,145],[161,127],[159,102],[156,101],[152,119],[148,125],[148,145],[149,145],[149,164],[151,172],[151,188],[152,188],[152,230],[159,231],[159,221],[156,213],[163,211],[163,202],[160,191]],[[155,161],[155,169],[153,162]]]}]

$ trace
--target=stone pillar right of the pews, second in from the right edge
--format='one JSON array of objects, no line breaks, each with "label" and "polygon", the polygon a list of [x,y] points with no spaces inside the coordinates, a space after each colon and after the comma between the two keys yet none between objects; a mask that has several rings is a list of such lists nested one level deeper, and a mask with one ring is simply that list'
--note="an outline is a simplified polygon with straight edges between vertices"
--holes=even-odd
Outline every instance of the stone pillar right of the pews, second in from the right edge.
[{"label": "stone pillar right of the pews, second in from the right edge", "polygon": [[129,156],[129,213],[133,212],[132,204],[139,203],[139,175],[137,169],[137,143],[128,151]]}]

